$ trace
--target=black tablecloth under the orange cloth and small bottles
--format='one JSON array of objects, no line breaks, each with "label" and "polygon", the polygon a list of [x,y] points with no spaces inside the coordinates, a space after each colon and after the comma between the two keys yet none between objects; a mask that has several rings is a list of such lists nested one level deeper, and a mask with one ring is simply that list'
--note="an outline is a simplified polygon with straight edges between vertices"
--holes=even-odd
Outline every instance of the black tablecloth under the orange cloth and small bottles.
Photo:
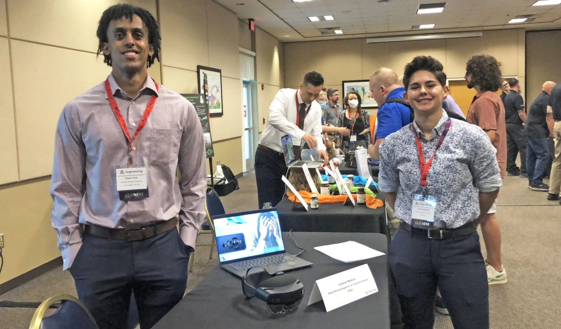
[{"label": "black tablecloth under the orange cloth and small bottles", "polygon": [[[384,194],[376,193],[384,200]],[[319,209],[306,212],[300,203],[292,210],[292,202],[285,195],[277,204],[280,230],[294,232],[363,232],[381,233],[389,236],[385,218],[385,207],[377,209],[365,204],[343,205],[343,203],[320,203]]]}]

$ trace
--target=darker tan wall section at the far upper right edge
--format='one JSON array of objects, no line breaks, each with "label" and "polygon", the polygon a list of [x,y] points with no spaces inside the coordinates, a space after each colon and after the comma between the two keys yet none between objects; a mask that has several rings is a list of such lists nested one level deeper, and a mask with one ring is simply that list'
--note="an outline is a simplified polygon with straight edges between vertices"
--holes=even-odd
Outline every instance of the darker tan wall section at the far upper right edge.
[{"label": "darker tan wall section at the far upper right edge", "polygon": [[526,33],[526,96],[528,104],[541,92],[545,81],[561,83],[561,31]]}]

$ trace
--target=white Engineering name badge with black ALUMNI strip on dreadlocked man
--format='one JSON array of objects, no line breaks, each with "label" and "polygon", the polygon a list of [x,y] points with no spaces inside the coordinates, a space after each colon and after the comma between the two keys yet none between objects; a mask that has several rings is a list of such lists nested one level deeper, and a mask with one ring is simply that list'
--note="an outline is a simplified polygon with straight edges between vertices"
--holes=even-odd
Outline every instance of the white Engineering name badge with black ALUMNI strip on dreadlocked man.
[{"label": "white Engineering name badge with black ALUMNI strip on dreadlocked man", "polygon": [[119,200],[138,200],[149,197],[146,167],[119,168],[116,170],[116,174]]}]

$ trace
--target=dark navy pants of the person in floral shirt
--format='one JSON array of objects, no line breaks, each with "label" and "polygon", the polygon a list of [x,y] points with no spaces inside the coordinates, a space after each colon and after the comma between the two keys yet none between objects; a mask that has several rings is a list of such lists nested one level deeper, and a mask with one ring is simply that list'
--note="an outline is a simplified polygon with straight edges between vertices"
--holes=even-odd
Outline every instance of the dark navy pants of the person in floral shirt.
[{"label": "dark navy pants of the person in floral shirt", "polygon": [[404,329],[432,329],[438,285],[455,329],[489,329],[489,287],[475,227],[445,240],[401,227],[389,246]]}]

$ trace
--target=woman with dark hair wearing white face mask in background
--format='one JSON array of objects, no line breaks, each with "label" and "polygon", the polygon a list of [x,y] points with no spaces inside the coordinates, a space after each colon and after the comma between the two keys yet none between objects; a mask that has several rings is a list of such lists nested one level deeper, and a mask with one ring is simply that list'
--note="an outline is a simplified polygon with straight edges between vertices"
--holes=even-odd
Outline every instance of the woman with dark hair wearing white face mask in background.
[{"label": "woman with dark hair wearing white face mask in background", "polygon": [[343,152],[353,151],[357,146],[367,148],[370,145],[370,113],[361,109],[361,98],[357,92],[349,92],[343,100],[346,111],[341,112],[337,126],[351,130],[350,136],[335,133],[337,146]]}]

